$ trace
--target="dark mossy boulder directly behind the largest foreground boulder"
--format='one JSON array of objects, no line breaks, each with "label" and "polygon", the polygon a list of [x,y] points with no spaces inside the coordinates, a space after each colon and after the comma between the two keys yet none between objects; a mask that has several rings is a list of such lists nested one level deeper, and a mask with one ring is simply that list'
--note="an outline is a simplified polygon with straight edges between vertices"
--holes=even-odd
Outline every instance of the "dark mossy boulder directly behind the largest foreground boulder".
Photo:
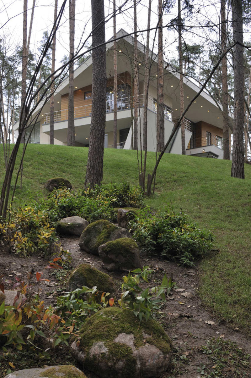
[{"label": "dark mossy boulder directly behind the largest foreground boulder", "polygon": [[111,294],[115,292],[112,277],[89,264],[80,264],[73,270],[67,281],[66,290],[73,291],[82,286],[89,288],[96,286],[97,290]]}]

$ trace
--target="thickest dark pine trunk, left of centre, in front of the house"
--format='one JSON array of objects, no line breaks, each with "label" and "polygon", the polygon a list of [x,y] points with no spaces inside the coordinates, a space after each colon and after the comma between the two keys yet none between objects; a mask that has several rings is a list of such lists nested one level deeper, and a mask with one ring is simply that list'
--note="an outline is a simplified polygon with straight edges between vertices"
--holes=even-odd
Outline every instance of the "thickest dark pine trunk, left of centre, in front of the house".
[{"label": "thickest dark pine trunk, left of centre, in front of the house", "polygon": [[92,120],[85,187],[103,179],[104,134],[106,126],[106,46],[104,0],[92,0]]}]

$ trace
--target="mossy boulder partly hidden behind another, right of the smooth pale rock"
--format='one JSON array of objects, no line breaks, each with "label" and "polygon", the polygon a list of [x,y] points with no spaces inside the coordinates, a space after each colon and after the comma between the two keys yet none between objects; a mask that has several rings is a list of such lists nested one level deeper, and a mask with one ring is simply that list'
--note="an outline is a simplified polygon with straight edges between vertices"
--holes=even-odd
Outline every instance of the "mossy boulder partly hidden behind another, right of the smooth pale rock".
[{"label": "mossy boulder partly hidden behind another, right of the smooth pale rock", "polygon": [[79,246],[88,253],[98,255],[98,247],[110,240],[121,237],[131,238],[130,232],[125,228],[117,227],[109,220],[97,220],[90,223],[80,236]]}]

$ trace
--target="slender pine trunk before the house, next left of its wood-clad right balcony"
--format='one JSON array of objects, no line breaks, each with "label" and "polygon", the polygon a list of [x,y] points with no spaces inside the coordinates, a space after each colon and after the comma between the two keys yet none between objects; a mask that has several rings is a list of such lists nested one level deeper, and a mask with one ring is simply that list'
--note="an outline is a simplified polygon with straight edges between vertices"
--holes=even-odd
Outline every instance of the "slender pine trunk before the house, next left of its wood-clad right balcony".
[{"label": "slender pine trunk before the house, next left of its wood-clad right balcony", "polygon": [[[183,86],[183,55],[182,55],[182,20],[181,20],[181,0],[178,0],[178,34],[179,34],[179,93],[181,115],[184,113],[184,86]],[[185,122],[181,120],[181,153],[186,154],[185,144]]]}]

